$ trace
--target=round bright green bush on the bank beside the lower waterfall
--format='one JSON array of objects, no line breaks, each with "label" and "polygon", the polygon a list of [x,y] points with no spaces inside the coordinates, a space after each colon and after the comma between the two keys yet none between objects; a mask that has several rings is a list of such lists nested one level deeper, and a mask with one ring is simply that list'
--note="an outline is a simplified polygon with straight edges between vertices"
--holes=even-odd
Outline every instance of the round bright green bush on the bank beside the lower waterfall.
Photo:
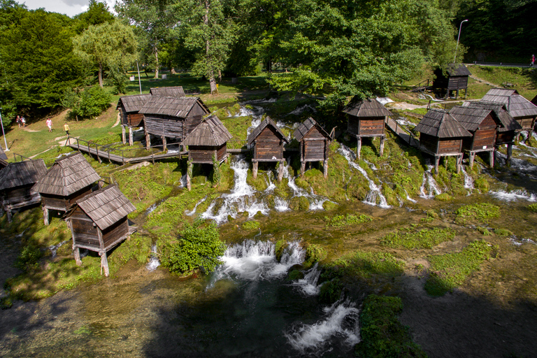
[{"label": "round bright green bush on the bank beside the lower waterfall", "polygon": [[164,245],[161,262],[175,273],[187,274],[198,269],[211,272],[221,264],[219,257],[224,251],[216,224],[203,226],[203,220],[196,220],[192,225],[185,223],[177,243]]}]

